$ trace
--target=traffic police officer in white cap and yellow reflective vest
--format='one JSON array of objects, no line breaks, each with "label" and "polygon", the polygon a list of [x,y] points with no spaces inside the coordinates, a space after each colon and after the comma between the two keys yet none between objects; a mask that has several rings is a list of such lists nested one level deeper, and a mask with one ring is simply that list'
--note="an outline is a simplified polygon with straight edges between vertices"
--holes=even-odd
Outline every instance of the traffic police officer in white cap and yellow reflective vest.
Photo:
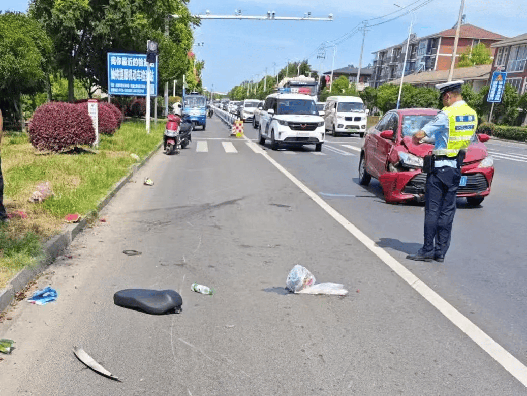
[{"label": "traffic police officer in white cap and yellow reflective vest", "polygon": [[435,142],[433,169],[426,176],[424,246],[408,254],[407,259],[443,262],[450,246],[461,166],[477,126],[476,112],[461,96],[463,83],[435,86],[445,107],[412,138],[414,144],[419,144],[424,137],[434,136]]}]

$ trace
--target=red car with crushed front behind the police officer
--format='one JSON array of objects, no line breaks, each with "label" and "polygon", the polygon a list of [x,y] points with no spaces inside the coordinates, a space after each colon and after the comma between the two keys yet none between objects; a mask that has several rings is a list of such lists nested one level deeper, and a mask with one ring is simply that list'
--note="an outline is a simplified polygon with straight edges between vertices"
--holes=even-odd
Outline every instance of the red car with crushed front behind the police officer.
[{"label": "red car with crushed front behind the police officer", "polygon": [[[409,200],[424,201],[426,174],[423,158],[431,154],[433,140],[425,138],[418,145],[412,136],[432,121],[439,110],[401,109],[388,111],[376,126],[369,128],[360,151],[359,183],[368,185],[375,177],[383,188],[388,203]],[[427,140],[428,139],[428,140]],[[458,197],[479,205],[491,192],[494,161],[487,153],[485,134],[474,137],[461,167]]]}]

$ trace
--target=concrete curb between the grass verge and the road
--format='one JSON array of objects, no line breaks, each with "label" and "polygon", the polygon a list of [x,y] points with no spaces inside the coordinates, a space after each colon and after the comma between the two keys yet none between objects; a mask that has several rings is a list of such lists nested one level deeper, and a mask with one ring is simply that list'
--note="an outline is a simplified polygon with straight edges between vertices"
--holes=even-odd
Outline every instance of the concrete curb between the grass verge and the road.
[{"label": "concrete curb between the grass verge and the road", "polygon": [[[104,206],[108,205],[111,199],[118,193],[121,188],[123,188],[126,183],[130,181],[134,174],[136,174],[139,169],[141,169],[152,156],[161,148],[163,143],[161,142],[157,147],[155,147],[152,152],[143,159],[139,164],[134,164],[131,168],[131,171],[128,175],[124,176],[119,182],[117,182],[112,191],[106,195],[101,202],[97,205],[97,210],[102,210]],[[43,254],[44,258],[38,262],[35,267],[27,267],[22,271],[18,272],[7,286],[0,290],[0,312],[6,309],[11,305],[15,299],[15,294],[23,290],[26,285],[34,280],[38,275],[42,274],[49,267],[55,259],[60,256],[64,250],[70,245],[70,243],[75,239],[75,237],[81,232],[87,224],[86,219],[82,219],[79,223],[69,225],[66,230],[60,234],[55,235],[55,237],[48,240],[44,243]]]}]

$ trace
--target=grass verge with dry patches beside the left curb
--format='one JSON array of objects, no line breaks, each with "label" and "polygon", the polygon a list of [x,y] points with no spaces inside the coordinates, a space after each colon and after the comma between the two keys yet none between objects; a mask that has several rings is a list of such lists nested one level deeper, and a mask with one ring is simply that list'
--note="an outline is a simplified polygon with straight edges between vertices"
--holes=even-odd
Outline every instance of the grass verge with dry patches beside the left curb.
[{"label": "grass verge with dry patches beside the left curb", "polygon": [[[64,228],[69,213],[85,215],[136,160],[146,157],[162,139],[164,122],[145,131],[145,122],[126,121],[113,136],[101,135],[98,148],[89,146],[64,153],[39,152],[26,134],[4,132],[0,158],[4,175],[4,205],[13,214],[0,227],[0,288],[42,254],[42,243]],[[36,185],[49,182],[53,196],[43,203],[29,201]],[[18,213],[18,214],[17,214]],[[22,214],[22,215],[20,215]]]}]

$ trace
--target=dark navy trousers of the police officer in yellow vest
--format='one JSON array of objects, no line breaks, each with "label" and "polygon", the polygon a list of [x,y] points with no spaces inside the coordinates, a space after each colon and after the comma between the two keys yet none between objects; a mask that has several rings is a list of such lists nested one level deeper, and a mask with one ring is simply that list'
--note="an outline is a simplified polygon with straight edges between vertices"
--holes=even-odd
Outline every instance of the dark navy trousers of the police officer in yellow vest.
[{"label": "dark navy trousers of the police officer in yellow vest", "polygon": [[450,246],[452,223],[456,212],[457,188],[461,169],[450,166],[434,168],[426,175],[425,243],[420,253],[444,256]]}]

